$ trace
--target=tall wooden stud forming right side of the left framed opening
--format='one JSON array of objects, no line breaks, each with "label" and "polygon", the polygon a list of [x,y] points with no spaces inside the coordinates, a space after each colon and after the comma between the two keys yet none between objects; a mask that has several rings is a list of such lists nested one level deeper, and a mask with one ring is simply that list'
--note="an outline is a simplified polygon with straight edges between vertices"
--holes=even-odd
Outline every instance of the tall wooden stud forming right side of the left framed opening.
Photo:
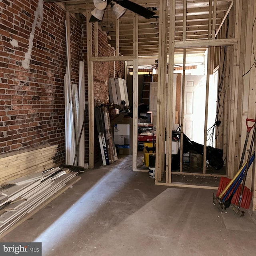
[{"label": "tall wooden stud forming right side of the left framed opening", "polygon": [[132,170],[137,169],[137,150],[138,150],[138,14],[134,13],[133,16],[133,84],[132,84],[132,99],[133,99],[133,106],[132,106],[132,133],[133,133],[133,140],[132,140]]}]

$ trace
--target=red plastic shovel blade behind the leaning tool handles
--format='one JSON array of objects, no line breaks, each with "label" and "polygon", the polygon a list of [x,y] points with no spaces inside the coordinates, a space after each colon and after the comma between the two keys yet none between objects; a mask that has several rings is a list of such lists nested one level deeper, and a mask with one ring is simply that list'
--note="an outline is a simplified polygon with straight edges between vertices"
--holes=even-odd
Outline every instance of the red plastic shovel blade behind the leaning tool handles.
[{"label": "red plastic shovel blade behind the leaning tool handles", "polygon": [[[221,177],[220,178],[220,184],[219,184],[218,191],[217,191],[217,194],[216,194],[217,197],[226,188],[226,186],[228,186],[228,183],[230,181],[231,181],[231,179],[226,178],[226,177]],[[236,190],[236,192],[235,192],[235,194],[234,194],[234,196],[233,196],[233,198],[231,200],[232,204],[238,205],[241,189],[242,189],[242,184],[240,184],[238,189]],[[232,194],[233,190],[234,189],[231,190],[231,192],[228,195],[227,199],[230,197],[230,195]],[[241,201],[240,207],[248,209],[250,207],[251,200],[252,200],[252,192],[251,192],[251,190],[249,188],[244,186],[244,191],[243,191],[242,201]]]}]

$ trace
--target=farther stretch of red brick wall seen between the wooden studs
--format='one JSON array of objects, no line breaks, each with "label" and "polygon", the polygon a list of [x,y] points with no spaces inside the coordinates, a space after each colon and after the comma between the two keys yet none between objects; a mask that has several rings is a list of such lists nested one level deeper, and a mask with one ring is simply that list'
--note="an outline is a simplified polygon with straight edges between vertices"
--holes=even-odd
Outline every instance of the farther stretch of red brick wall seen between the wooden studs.
[{"label": "farther stretch of red brick wall seen between the wooden studs", "polygon": [[[84,61],[87,61],[87,50],[86,50],[86,20],[84,21],[83,29],[83,58]],[[94,47],[94,24],[92,25],[93,31],[93,54],[95,52]],[[114,56],[114,50],[108,45],[108,37],[102,30],[98,30],[98,56]],[[124,78],[124,62],[94,62],[94,106],[98,106],[100,104],[108,103],[108,78],[110,77],[120,77]],[[86,84],[86,92],[88,92],[88,76],[87,76],[87,65],[85,65],[85,84]],[[95,125],[96,127],[96,125]],[[85,132],[85,148],[86,148],[86,160],[88,161],[89,156],[89,134],[88,134],[88,124],[86,125]],[[100,146],[98,141],[98,134],[95,129],[94,136],[94,145],[95,145],[95,162],[100,160]]]}]

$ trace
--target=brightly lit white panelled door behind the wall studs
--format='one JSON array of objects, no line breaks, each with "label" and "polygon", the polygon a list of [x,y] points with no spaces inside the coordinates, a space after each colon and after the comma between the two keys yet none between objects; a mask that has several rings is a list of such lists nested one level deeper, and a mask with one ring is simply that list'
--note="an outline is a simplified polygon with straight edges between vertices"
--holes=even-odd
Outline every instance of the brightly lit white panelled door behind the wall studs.
[{"label": "brightly lit white panelled door behind the wall studs", "polygon": [[199,144],[204,144],[205,94],[206,76],[186,75],[183,132]]}]

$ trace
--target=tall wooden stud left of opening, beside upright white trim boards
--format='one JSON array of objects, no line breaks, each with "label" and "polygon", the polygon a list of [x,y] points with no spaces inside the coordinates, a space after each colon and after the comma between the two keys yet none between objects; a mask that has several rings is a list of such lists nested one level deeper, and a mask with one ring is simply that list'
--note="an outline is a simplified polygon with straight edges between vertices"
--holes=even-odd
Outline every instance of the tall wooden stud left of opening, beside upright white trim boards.
[{"label": "tall wooden stud left of opening, beside upright white trim boards", "polygon": [[[92,58],[92,23],[89,22],[90,11],[86,12],[86,41],[88,66],[88,113],[89,113],[89,168],[94,167],[94,86]],[[95,57],[97,58],[97,57]]]}]

